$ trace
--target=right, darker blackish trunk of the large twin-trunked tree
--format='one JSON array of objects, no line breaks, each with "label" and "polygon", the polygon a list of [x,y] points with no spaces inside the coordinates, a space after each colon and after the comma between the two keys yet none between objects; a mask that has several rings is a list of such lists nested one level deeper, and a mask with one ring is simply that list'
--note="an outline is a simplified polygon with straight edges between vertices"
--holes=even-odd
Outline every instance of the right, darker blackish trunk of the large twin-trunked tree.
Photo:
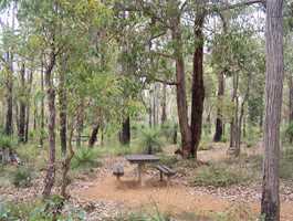
[{"label": "right, darker blackish trunk of the large twin-trunked tree", "polygon": [[200,143],[202,113],[205,101],[203,85],[203,27],[205,15],[199,14],[195,21],[196,49],[193,53],[193,73],[192,73],[192,97],[191,97],[191,155],[197,159],[197,149]]}]

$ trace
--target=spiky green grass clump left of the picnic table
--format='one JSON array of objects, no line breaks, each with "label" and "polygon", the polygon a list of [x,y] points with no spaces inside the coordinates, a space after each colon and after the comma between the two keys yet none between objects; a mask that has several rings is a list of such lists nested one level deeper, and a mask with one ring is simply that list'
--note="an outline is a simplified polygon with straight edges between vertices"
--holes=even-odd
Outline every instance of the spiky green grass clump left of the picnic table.
[{"label": "spiky green grass clump left of the picnic table", "polygon": [[75,151],[71,167],[73,169],[98,167],[101,162],[97,161],[97,151],[87,147],[81,147]]}]

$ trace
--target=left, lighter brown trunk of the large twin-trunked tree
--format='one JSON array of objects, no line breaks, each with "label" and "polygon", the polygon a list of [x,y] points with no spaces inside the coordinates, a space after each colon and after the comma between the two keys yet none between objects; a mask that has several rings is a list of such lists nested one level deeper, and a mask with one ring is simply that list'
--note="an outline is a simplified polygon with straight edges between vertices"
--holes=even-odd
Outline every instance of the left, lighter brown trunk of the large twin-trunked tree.
[{"label": "left, lighter brown trunk of the large twin-trunked tree", "polygon": [[179,119],[179,129],[181,134],[182,155],[188,157],[192,149],[191,129],[188,124],[188,108],[186,96],[186,82],[185,82],[185,62],[182,55],[182,40],[180,30],[180,18],[175,18],[171,36],[176,44],[174,55],[176,57],[176,95],[177,95],[177,112]]}]

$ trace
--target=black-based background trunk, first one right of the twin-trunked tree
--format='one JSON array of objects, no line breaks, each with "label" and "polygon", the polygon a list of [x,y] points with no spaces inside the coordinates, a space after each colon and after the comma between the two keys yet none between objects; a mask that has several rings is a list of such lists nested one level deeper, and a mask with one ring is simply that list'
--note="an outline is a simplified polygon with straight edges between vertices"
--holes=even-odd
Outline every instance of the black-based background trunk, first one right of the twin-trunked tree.
[{"label": "black-based background trunk, first one right of the twin-trunked tree", "polygon": [[213,136],[213,141],[221,141],[223,135],[223,123],[222,123],[222,110],[221,104],[224,95],[224,73],[220,72],[218,74],[218,107],[217,107],[217,118],[216,118],[216,131]]}]

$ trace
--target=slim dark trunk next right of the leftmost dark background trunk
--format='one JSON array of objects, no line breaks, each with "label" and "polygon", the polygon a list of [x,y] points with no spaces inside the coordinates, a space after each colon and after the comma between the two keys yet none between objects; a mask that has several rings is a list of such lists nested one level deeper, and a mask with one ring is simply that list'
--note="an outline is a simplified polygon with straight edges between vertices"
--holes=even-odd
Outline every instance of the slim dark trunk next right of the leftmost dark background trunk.
[{"label": "slim dark trunk next right of the leftmost dark background trunk", "polygon": [[25,67],[24,63],[21,65],[20,70],[20,84],[21,84],[21,97],[19,105],[19,141],[24,143],[25,140]]}]

